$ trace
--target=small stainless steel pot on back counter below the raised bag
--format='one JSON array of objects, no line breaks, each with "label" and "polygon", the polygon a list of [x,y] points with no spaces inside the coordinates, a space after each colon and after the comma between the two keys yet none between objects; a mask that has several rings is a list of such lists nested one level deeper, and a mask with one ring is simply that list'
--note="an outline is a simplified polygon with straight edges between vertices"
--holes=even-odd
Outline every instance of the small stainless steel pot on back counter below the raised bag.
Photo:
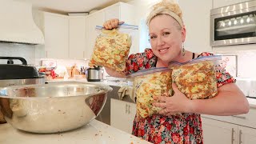
[{"label": "small stainless steel pot on back counter below the raised bag", "polygon": [[87,69],[86,75],[88,82],[100,82],[103,80],[102,66],[94,66],[94,68]]}]

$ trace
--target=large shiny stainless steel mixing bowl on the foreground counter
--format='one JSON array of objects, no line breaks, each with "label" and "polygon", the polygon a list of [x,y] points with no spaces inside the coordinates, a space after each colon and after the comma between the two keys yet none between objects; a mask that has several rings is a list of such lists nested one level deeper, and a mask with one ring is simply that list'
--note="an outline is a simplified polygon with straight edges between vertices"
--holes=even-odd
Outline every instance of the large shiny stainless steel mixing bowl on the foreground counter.
[{"label": "large shiny stainless steel mixing bowl on the foreground counter", "polygon": [[9,86],[0,90],[0,106],[6,121],[18,130],[56,133],[96,118],[111,90],[82,82]]}]

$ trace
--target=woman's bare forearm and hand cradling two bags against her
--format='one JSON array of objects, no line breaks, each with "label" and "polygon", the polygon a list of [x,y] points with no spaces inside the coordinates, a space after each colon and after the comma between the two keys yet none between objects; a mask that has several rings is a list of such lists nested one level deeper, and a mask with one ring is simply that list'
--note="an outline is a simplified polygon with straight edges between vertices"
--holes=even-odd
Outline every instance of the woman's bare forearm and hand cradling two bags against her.
[{"label": "woman's bare forearm and hand cradling two bags against her", "polygon": [[173,83],[172,97],[154,97],[158,102],[154,106],[162,107],[159,114],[170,116],[177,113],[196,113],[210,115],[235,115],[249,112],[249,103],[235,83],[228,83],[218,88],[218,95],[209,99],[186,98]]}]

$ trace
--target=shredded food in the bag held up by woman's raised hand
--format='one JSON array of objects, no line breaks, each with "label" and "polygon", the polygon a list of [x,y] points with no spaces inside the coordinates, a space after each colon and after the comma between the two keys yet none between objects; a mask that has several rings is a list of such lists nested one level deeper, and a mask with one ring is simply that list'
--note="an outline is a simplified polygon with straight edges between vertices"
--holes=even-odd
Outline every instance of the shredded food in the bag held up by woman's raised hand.
[{"label": "shredded food in the bag held up by woman's raised hand", "polygon": [[126,69],[126,59],[131,46],[129,34],[118,30],[102,30],[96,38],[90,66],[106,66],[118,72]]}]

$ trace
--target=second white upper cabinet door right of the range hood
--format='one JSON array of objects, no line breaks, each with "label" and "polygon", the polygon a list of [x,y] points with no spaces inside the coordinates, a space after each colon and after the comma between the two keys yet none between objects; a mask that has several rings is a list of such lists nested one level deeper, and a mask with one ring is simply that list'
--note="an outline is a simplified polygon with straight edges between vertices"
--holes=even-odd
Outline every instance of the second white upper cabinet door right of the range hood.
[{"label": "second white upper cabinet door right of the range hood", "polygon": [[86,18],[75,16],[69,18],[70,22],[70,58],[84,58],[86,50]]}]

